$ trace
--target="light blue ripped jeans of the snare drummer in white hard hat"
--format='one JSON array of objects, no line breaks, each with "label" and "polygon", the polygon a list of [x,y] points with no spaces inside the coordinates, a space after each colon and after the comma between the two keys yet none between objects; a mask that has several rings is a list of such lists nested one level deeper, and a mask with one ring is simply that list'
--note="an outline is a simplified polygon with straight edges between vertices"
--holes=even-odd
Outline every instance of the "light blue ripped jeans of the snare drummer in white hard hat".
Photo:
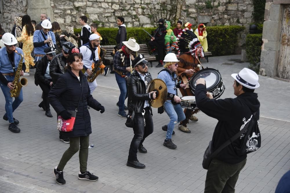
[{"label": "light blue ripped jeans of the snare drummer in white hard hat", "polygon": [[185,119],[185,115],[180,104],[173,105],[171,100],[165,101],[164,108],[170,118],[170,122],[167,125],[166,139],[171,139],[174,126],[180,121],[183,121]]}]

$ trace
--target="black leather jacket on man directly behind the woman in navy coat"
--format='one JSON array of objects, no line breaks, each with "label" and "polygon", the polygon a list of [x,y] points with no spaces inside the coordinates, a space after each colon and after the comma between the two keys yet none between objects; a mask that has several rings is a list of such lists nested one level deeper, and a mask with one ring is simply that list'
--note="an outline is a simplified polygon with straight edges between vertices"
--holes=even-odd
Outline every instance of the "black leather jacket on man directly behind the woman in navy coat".
[{"label": "black leather jacket on man directly behind the woman in navy coat", "polygon": [[[60,61],[60,65],[59,62]],[[66,58],[63,56],[62,53],[57,54],[55,57],[52,58],[50,65],[49,65],[49,75],[52,78],[53,84],[56,83],[59,76],[66,72]]]}]

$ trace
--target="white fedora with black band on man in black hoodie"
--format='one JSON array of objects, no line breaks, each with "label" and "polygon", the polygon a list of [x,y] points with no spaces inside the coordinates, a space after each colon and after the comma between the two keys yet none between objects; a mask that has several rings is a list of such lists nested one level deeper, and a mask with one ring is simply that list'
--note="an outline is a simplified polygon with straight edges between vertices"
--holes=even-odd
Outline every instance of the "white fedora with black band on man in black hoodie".
[{"label": "white fedora with black band on man in black hoodie", "polygon": [[244,87],[249,89],[256,89],[260,87],[260,84],[258,83],[258,75],[253,70],[248,68],[243,68],[238,74],[232,74],[232,77]]}]

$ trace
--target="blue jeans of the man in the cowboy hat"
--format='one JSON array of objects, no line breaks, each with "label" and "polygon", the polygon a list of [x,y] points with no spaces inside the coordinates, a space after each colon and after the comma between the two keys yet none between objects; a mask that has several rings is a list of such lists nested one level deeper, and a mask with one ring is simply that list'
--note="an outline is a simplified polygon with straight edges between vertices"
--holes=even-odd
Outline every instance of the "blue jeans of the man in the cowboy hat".
[{"label": "blue jeans of the man in the cowboy hat", "polygon": [[[130,76],[130,73],[127,74],[127,76]],[[127,91],[127,81],[125,78],[123,78],[121,75],[119,75],[117,72],[115,72],[115,77],[117,84],[120,89],[120,96],[119,96],[119,111],[123,112],[124,111],[124,106],[125,106],[125,100],[128,97],[128,91]]]}]

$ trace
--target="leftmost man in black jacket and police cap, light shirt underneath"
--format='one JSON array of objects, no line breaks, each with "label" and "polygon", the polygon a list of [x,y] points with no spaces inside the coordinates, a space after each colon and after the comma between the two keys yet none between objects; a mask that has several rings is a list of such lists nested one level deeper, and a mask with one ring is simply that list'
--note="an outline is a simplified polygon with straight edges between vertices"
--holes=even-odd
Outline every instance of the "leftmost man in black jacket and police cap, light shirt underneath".
[{"label": "leftmost man in black jacket and police cap, light shirt underneath", "polygon": [[36,63],[34,83],[36,86],[39,85],[43,92],[43,100],[38,106],[43,108],[47,117],[52,117],[48,101],[48,92],[50,91],[50,87],[52,85],[52,80],[49,75],[49,64],[53,56],[55,56],[55,48],[47,47],[44,49],[44,52],[46,55]]}]

